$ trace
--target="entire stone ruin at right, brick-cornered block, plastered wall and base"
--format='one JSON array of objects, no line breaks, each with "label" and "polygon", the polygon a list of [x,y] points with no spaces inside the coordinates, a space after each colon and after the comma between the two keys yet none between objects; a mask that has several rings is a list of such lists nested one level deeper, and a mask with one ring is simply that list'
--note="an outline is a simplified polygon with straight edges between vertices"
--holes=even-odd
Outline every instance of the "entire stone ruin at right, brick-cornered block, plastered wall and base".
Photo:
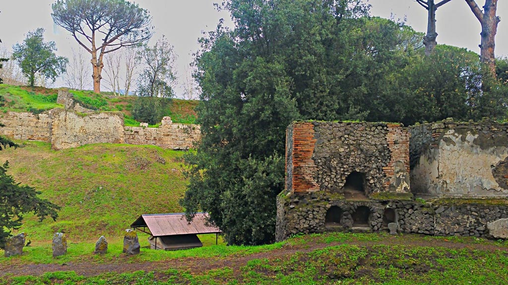
[{"label": "entire stone ruin at right, brick-cornered block, plastered wall and base", "polygon": [[295,122],[276,239],[325,231],[500,238],[506,232],[489,228],[508,218],[507,131],[495,122]]}]

